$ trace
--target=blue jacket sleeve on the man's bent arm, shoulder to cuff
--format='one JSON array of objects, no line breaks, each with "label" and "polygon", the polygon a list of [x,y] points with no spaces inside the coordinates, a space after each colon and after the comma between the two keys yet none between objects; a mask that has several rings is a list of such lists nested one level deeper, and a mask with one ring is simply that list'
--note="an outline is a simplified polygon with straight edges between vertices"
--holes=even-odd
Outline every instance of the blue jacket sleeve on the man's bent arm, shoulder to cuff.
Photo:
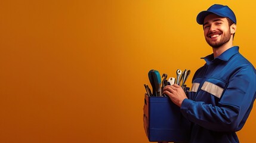
[{"label": "blue jacket sleeve on the man's bent arm, shoulder to cuff", "polygon": [[230,77],[217,105],[186,99],[181,113],[191,122],[215,131],[237,131],[242,128],[255,100],[255,71],[240,69]]}]

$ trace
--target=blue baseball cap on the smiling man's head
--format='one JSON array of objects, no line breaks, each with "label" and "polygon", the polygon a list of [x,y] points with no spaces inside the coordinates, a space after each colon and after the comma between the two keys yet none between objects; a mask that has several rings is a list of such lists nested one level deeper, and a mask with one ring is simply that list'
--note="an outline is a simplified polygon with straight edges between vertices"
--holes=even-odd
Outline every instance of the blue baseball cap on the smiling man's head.
[{"label": "blue baseball cap on the smiling man's head", "polygon": [[208,14],[216,14],[220,17],[228,17],[236,24],[236,15],[229,7],[227,7],[227,5],[214,4],[209,7],[208,10],[201,11],[201,13],[199,13],[196,17],[196,21],[198,22],[198,24],[202,25],[203,20],[205,20],[205,17]]}]

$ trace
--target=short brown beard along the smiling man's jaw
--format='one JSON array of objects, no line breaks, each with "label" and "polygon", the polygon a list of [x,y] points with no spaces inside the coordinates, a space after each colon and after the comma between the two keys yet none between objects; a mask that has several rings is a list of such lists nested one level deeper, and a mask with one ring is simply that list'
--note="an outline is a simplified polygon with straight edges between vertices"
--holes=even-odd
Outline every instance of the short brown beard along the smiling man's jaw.
[{"label": "short brown beard along the smiling man's jaw", "polygon": [[219,48],[220,46],[224,45],[225,43],[230,41],[230,29],[227,33],[222,33],[222,38],[220,39],[220,42],[211,42],[209,39],[205,38],[206,42],[212,47],[212,48]]}]

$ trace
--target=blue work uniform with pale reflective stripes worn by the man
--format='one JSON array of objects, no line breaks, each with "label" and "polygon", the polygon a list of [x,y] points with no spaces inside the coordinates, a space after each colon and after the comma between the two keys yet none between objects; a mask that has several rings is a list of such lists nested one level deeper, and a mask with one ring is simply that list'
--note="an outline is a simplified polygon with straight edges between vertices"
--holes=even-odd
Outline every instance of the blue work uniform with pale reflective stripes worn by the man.
[{"label": "blue work uniform with pale reflective stripes worn by the man", "polygon": [[236,131],[245,124],[256,96],[254,66],[238,46],[204,59],[206,64],[193,76],[189,99],[181,104],[181,113],[192,122],[190,142],[239,142]]}]

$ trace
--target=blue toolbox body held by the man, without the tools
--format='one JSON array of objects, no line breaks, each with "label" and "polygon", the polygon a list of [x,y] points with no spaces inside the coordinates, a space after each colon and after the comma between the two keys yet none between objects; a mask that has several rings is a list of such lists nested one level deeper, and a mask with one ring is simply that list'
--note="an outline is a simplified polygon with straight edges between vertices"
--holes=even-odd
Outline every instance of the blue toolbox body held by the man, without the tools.
[{"label": "blue toolbox body held by the man, without the tools", "polygon": [[169,97],[144,96],[144,130],[150,142],[189,142],[190,122]]}]

